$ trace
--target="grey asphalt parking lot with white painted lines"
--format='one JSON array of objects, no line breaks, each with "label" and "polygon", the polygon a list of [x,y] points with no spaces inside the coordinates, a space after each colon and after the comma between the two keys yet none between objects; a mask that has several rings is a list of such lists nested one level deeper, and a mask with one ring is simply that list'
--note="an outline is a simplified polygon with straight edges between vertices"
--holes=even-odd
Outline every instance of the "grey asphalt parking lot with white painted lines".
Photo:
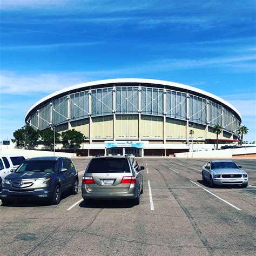
[{"label": "grey asphalt parking lot with white painted lines", "polygon": [[75,158],[79,192],[59,205],[35,201],[0,206],[3,255],[254,254],[255,160],[239,159],[246,188],[210,188],[201,181],[207,160],[137,158],[145,166],[140,204],[87,204],[80,185],[89,158]]}]

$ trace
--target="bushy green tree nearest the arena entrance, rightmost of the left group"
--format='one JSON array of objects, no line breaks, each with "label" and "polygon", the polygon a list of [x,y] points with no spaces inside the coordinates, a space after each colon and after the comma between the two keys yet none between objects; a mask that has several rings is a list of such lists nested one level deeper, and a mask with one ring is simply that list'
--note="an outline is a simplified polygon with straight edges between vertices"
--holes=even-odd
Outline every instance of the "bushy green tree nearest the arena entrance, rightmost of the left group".
[{"label": "bushy green tree nearest the arena entrance, rightmost of the left group", "polygon": [[74,152],[76,152],[77,149],[80,149],[84,140],[84,134],[75,129],[62,132],[62,144],[64,149],[73,149]]}]

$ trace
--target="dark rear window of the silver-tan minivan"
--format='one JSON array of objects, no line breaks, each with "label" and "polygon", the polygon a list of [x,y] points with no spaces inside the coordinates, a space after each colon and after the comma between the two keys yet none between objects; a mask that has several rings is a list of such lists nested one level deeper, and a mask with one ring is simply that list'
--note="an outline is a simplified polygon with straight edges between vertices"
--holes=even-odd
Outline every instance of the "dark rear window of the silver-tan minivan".
[{"label": "dark rear window of the silver-tan minivan", "polygon": [[93,158],[87,173],[130,172],[126,158]]}]

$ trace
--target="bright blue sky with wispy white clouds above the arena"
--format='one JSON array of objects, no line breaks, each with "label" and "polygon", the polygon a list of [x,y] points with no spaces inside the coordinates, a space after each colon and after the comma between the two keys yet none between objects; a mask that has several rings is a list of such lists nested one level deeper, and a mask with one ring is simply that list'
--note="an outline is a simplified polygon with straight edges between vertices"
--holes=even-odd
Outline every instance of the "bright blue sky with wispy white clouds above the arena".
[{"label": "bright blue sky with wispy white clouds above the arena", "polygon": [[256,141],[255,1],[1,0],[0,141],[52,92],[168,80],[237,108]]}]

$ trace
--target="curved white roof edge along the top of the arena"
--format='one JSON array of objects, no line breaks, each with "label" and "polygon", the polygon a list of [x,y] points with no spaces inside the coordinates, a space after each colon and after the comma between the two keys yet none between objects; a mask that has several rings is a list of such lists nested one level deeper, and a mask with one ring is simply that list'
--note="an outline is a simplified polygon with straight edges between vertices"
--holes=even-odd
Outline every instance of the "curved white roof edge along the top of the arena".
[{"label": "curved white roof edge along the top of the arena", "polygon": [[47,100],[56,97],[62,93],[65,92],[69,92],[69,91],[73,91],[73,90],[77,90],[79,88],[84,88],[84,87],[90,87],[90,86],[95,86],[95,85],[100,85],[100,84],[115,84],[115,83],[147,83],[147,84],[160,84],[160,85],[167,85],[167,86],[172,86],[172,87],[177,87],[178,89],[181,88],[183,90],[188,90],[188,91],[194,91],[196,93],[200,93],[201,95],[205,95],[207,97],[213,98],[217,101],[219,101],[220,103],[230,107],[230,109],[232,109],[235,113],[238,114],[238,116],[240,117],[240,121],[242,120],[241,114],[240,112],[230,103],[226,102],[226,100],[221,99],[220,97],[213,95],[210,92],[198,89],[196,87],[190,86],[190,85],[185,85],[185,84],[179,84],[179,83],[173,83],[173,82],[169,82],[169,81],[165,81],[165,80],[157,80],[157,79],[144,79],[144,78],[116,78],[116,79],[104,79],[104,80],[97,80],[97,81],[93,81],[93,82],[87,82],[87,83],[83,83],[83,84],[77,84],[77,85],[73,85],[70,87],[66,87],[62,90],[56,91],[51,93],[48,96],[45,96],[44,98],[42,98],[41,100],[38,100],[38,102],[36,102],[35,104],[33,104],[30,109],[28,110],[28,112],[26,112],[26,116],[25,116],[25,120],[28,117],[28,114],[35,109],[36,106],[38,106],[39,104],[42,104],[43,102],[46,102]]}]

